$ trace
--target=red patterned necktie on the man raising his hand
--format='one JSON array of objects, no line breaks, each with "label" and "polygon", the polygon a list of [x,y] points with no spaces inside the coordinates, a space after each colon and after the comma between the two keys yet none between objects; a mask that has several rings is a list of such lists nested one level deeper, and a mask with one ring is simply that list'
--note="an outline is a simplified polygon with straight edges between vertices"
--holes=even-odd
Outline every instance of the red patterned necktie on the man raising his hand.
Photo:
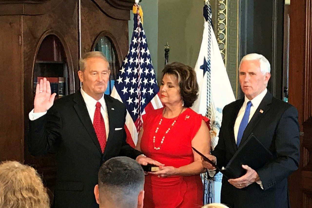
[{"label": "red patterned necktie on the man raising his hand", "polygon": [[101,114],[101,104],[97,102],[95,104],[95,112],[93,118],[93,127],[96,133],[96,136],[99,140],[100,147],[102,152],[104,152],[104,148],[106,145],[106,130],[103,116]]}]

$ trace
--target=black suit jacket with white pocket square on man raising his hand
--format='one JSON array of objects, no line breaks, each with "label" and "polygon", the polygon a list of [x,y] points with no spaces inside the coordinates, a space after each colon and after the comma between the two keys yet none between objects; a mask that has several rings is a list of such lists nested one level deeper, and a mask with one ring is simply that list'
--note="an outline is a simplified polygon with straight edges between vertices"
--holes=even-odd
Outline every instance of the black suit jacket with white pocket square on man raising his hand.
[{"label": "black suit jacket with white pocket square on man raising his hand", "polygon": [[110,128],[104,154],[80,90],[56,100],[46,115],[30,121],[31,154],[57,151],[56,208],[98,208],[93,190],[101,164],[116,156],[135,159],[142,154],[126,143],[124,104],[106,94],[104,99]]}]

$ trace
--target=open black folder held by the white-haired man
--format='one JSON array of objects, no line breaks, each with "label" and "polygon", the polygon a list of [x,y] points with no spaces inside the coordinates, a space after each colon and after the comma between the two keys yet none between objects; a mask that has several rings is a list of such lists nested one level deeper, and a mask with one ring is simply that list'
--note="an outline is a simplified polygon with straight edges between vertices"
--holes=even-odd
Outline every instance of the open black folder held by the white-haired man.
[{"label": "open black folder held by the white-haired man", "polygon": [[[192,147],[193,148],[193,147]],[[227,178],[239,178],[246,174],[246,170],[241,165],[248,165],[255,171],[263,167],[272,159],[272,153],[251,133],[245,143],[236,151],[232,159],[224,168],[218,167],[202,153],[193,148],[195,152],[203,157],[204,160],[210,162],[213,167],[220,171]]]}]

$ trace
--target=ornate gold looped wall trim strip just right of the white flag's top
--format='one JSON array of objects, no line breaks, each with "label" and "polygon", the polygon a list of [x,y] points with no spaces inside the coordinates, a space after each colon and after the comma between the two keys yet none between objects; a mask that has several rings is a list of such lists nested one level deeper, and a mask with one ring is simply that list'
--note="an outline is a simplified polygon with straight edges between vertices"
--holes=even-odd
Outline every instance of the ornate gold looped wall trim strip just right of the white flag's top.
[{"label": "ornate gold looped wall trim strip just right of the white flag's top", "polygon": [[217,42],[225,66],[227,65],[227,0],[218,0]]}]

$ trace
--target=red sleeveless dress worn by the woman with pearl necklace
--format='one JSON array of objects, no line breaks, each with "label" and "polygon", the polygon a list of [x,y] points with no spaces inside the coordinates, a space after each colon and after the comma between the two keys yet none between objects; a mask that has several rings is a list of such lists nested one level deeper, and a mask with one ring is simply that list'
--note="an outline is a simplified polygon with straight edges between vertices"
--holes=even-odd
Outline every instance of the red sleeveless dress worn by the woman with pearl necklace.
[{"label": "red sleeveless dress worn by the woman with pearl necklace", "polygon": [[[176,118],[163,118],[155,134],[162,113],[163,108],[142,116],[144,133],[141,138],[141,152],[165,166],[181,167],[194,162],[192,139],[202,120],[209,124],[209,119],[187,108],[166,135],[165,132]],[[159,150],[154,149],[154,134],[156,148],[165,135]],[[144,191],[144,208],[199,208],[203,205],[203,187],[199,174],[164,178],[148,174],[145,176]]]}]

